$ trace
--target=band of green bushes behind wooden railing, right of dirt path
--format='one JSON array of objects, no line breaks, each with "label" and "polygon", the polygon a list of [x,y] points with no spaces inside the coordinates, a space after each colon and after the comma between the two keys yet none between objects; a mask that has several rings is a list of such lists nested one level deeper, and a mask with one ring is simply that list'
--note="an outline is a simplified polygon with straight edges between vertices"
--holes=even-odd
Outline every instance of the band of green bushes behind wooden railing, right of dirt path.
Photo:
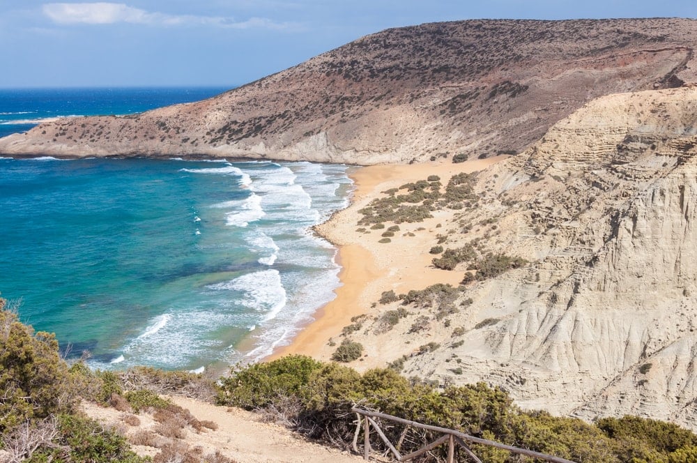
[{"label": "band of green bushes behind wooden railing, right of dirt path", "polygon": [[[293,366],[300,368],[293,372]],[[275,381],[274,372],[284,372],[284,381]],[[437,390],[430,384],[408,381],[390,369],[374,369],[362,376],[336,363],[317,363],[307,357],[279,358],[263,365],[251,365],[232,372],[224,380],[220,403],[245,404],[247,409],[268,406],[268,390],[274,383],[277,396],[292,400],[289,422],[312,437],[351,445],[355,415],[351,407],[375,409],[420,423],[448,427],[475,437],[557,455],[576,462],[597,463],[682,463],[694,462],[697,436],[668,423],[642,418],[606,418],[589,425],[576,418],[558,418],[542,411],[523,412],[503,390],[480,383],[447,386]],[[247,381],[252,381],[247,382]],[[261,391],[264,393],[250,393]],[[250,400],[259,397],[261,401]],[[384,423],[384,422],[383,422]],[[383,426],[392,442],[401,437],[403,427]],[[416,450],[439,435],[409,431],[402,441],[402,453]],[[360,439],[362,441],[362,438]],[[372,439],[374,450],[385,448]],[[445,446],[431,455],[433,461],[445,457]],[[473,445],[486,462],[523,461],[506,451]],[[527,460],[526,460],[527,461]]]}]

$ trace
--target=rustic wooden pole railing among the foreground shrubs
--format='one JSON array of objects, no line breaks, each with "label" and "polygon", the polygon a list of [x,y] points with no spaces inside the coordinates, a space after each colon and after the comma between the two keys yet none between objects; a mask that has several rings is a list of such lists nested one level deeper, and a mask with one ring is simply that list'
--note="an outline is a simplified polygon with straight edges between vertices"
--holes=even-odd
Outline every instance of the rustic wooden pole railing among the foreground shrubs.
[{"label": "rustic wooden pole railing among the foreground shrubs", "polygon": [[[447,463],[454,463],[456,445],[459,446],[464,451],[464,453],[468,457],[470,457],[470,459],[472,459],[473,462],[482,463],[482,460],[480,460],[468,446],[468,443],[479,443],[483,446],[500,448],[502,450],[507,450],[511,453],[526,455],[528,457],[537,458],[545,462],[574,463],[571,460],[565,460],[564,458],[553,457],[551,455],[544,455],[544,453],[533,452],[533,450],[527,450],[525,448],[507,446],[503,443],[488,441],[487,439],[480,439],[479,437],[470,436],[469,434],[465,434],[464,432],[449,430],[445,427],[423,425],[421,423],[416,423],[415,421],[405,420],[404,418],[398,418],[397,416],[387,415],[385,413],[378,413],[376,411],[368,411],[356,408],[351,409],[351,411],[358,415],[358,424],[355,428],[355,433],[353,434],[353,450],[355,450],[355,453],[360,453],[358,451],[358,434],[360,433],[360,425],[362,424],[364,439],[363,458],[365,460],[369,460],[370,451],[372,450],[370,446],[370,430],[372,427],[377,432],[378,436],[380,436],[380,439],[382,439],[383,443],[385,443],[385,446],[387,446],[392,455],[395,456],[395,459],[397,459],[398,462],[406,462],[407,460],[412,460],[415,457],[419,457],[424,453],[427,453],[430,450],[433,450],[434,448],[447,443]],[[381,430],[380,426],[378,425],[378,423],[376,423],[374,418],[382,418],[383,420],[394,421],[395,423],[406,425],[404,432],[402,432],[401,438],[399,439],[399,442],[396,446],[392,444],[392,442],[390,442],[390,439],[388,439],[387,436],[385,436],[385,433],[383,432],[383,430]],[[404,439],[404,436],[406,436],[406,431],[409,427],[439,432],[443,434],[443,436],[431,443],[426,444],[419,450],[415,450],[414,452],[409,453],[408,455],[401,455],[401,453],[399,453],[399,447],[401,446],[402,440]]]}]

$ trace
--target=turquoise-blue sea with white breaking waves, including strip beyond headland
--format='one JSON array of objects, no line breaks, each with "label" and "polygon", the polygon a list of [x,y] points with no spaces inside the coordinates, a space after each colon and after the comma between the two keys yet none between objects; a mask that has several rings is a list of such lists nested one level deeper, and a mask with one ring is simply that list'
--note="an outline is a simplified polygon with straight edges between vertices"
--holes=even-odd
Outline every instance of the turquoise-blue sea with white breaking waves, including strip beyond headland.
[{"label": "turquoise-blue sea with white breaking waves, including strip beyond headland", "polygon": [[[221,91],[0,90],[0,135]],[[0,294],[95,368],[202,372],[260,360],[335,298],[337,250],[312,226],[348,205],[347,169],[0,158]]]}]

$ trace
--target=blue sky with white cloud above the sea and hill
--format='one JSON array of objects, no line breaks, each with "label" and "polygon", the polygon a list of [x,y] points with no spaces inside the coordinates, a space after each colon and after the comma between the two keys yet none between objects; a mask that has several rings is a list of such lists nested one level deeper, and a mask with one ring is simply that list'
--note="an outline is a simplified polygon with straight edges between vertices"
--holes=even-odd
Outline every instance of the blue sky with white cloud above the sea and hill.
[{"label": "blue sky with white cloud above the sea and hill", "polygon": [[0,0],[0,88],[233,87],[369,33],[476,18],[697,17],[696,0]]}]

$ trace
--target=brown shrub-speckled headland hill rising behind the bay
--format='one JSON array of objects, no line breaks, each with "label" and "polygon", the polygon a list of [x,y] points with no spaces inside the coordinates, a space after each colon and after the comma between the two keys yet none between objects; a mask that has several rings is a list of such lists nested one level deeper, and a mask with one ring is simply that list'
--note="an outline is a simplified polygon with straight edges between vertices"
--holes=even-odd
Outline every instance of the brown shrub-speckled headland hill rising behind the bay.
[{"label": "brown shrub-speckled headland hill rising behind the bay", "polygon": [[10,155],[376,164],[519,153],[609,93],[697,82],[697,21],[474,20],[390,29],[200,103],[63,119]]}]

